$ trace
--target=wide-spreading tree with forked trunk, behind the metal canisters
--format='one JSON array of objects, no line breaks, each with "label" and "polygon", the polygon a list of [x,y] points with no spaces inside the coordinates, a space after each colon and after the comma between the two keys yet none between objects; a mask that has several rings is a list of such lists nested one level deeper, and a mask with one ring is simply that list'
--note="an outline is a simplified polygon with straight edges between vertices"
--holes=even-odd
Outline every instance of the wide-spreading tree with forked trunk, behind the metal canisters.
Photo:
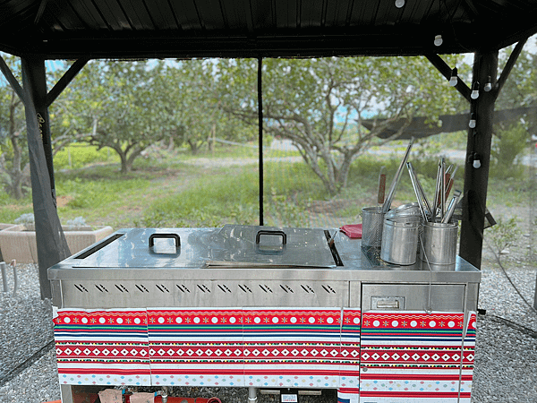
[{"label": "wide-spreading tree with forked trunk, behind the metal canisters", "polygon": [[[258,124],[257,63],[217,64],[222,107],[250,124]],[[377,134],[388,124],[420,114],[437,124],[460,105],[422,57],[264,59],[262,83],[265,132],[293,141],[330,194],[345,187],[354,159],[381,143]],[[371,117],[385,120],[367,130],[361,122]]]}]

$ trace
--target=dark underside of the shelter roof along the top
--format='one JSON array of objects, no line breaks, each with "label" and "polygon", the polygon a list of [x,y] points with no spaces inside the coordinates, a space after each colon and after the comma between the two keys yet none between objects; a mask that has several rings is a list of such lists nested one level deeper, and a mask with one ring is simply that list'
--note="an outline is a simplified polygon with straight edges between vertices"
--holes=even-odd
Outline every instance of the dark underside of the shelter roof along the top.
[{"label": "dark underside of the shelter roof along the top", "polygon": [[537,0],[0,0],[0,50],[48,59],[466,53],[533,35],[536,15]]}]

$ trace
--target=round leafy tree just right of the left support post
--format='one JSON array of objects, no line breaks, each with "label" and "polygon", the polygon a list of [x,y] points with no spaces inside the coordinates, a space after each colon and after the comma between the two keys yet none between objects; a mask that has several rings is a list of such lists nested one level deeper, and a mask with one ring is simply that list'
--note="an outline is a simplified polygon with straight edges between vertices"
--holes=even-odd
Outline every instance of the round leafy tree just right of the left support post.
[{"label": "round leafy tree just right of the left support post", "polygon": [[55,118],[72,141],[115,150],[129,172],[143,150],[178,130],[164,70],[162,61],[91,61],[58,99]]}]

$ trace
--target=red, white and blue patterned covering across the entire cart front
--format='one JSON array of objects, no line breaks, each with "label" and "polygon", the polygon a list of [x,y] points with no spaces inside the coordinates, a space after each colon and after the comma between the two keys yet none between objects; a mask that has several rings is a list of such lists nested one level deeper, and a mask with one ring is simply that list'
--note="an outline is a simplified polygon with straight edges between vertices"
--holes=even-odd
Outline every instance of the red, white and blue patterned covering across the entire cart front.
[{"label": "red, white and blue patterned covering across the entire cart front", "polygon": [[[475,313],[61,309],[60,382],[338,389],[341,402],[469,403]],[[464,352],[464,355],[463,355]]]}]

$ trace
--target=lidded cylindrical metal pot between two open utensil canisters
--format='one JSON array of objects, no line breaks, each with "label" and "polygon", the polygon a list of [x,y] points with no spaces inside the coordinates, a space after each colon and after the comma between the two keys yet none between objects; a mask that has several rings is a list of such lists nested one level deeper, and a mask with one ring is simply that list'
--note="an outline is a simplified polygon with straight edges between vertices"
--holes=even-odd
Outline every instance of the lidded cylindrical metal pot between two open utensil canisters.
[{"label": "lidded cylindrical metal pot between two open utensil canisters", "polygon": [[385,219],[380,259],[400,265],[415,263],[421,223],[422,220],[418,216]]}]

